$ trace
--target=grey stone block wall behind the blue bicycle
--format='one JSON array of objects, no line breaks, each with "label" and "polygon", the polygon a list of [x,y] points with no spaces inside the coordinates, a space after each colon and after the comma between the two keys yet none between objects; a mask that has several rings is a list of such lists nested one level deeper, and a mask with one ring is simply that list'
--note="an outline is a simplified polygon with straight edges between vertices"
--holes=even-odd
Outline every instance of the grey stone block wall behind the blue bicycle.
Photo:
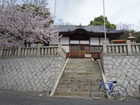
[{"label": "grey stone block wall behind the blue bicycle", "polygon": [[140,96],[140,56],[104,55],[102,63],[107,81],[126,87],[129,96]]}]

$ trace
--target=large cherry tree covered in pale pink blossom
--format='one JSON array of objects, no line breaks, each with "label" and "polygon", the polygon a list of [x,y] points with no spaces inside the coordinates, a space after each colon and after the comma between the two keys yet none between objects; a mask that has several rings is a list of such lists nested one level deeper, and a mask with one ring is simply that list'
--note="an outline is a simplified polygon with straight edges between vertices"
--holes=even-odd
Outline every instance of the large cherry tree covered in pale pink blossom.
[{"label": "large cherry tree covered in pale pink blossom", "polygon": [[0,46],[59,42],[59,32],[46,8],[47,0],[26,0],[23,5],[16,5],[16,0],[1,1]]}]

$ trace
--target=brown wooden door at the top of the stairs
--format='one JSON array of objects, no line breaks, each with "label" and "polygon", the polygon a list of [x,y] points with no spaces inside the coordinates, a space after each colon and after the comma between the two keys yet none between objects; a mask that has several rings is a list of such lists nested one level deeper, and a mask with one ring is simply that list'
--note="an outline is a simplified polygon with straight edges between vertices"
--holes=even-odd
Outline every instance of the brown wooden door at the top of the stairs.
[{"label": "brown wooden door at the top of the stairs", "polygon": [[71,58],[84,58],[85,54],[90,54],[89,45],[70,45]]}]

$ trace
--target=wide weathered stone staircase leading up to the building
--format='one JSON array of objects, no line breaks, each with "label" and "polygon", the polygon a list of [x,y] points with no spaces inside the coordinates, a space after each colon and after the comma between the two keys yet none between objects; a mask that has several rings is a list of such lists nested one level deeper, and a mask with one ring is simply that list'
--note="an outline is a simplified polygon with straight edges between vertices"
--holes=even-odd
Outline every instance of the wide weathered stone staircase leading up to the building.
[{"label": "wide weathered stone staircase leading up to the building", "polygon": [[69,59],[54,96],[90,97],[98,89],[97,78],[102,78],[97,61]]}]

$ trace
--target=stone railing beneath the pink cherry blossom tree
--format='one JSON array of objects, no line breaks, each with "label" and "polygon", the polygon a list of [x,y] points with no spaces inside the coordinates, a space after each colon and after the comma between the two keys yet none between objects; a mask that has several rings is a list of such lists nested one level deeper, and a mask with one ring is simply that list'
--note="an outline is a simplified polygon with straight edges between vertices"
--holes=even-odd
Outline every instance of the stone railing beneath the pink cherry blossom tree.
[{"label": "stone railing beneath the pink cherry blossom tree", "polygon": [[66,58],[66,52],[61,46],[37,46],[37,47],[1,47],[0,57],[22,57],[22,56],[46,56],[61,55]]}]

